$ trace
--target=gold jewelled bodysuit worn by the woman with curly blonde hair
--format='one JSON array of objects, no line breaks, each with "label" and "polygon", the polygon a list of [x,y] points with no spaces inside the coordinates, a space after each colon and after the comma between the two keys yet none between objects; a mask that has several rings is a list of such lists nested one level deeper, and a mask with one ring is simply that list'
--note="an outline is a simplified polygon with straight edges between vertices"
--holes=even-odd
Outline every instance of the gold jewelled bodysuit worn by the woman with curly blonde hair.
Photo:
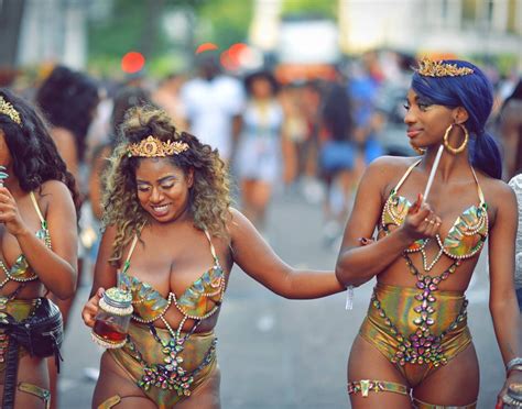
[{"label": "gold jewelled bodysuit worn by the woman with curly blonde hair", "polygon": [[[205,232],[214,257],[214,266],[196,279],[180,297],[170,292],[164,298],[148,283],[128,274],[130,257],[138,237],[131,245],[120,286],[132,292],[134,313],[126,345],[108,353],[160,408],[172,408],[202,385],[216,367],[216,342],[213,331],[195,332],[199,323],[214,316],[225,294],[225,274],[208,232]],[[164,316],[176,308],[183,319],[174,330]],[[161,320],[166,329],[153,325]],[[187,320],[194,325],[182,332]],[[110,408],[122,397],[115,396],[102,404]],[[104,406],[105,405],[105,406]]]}]

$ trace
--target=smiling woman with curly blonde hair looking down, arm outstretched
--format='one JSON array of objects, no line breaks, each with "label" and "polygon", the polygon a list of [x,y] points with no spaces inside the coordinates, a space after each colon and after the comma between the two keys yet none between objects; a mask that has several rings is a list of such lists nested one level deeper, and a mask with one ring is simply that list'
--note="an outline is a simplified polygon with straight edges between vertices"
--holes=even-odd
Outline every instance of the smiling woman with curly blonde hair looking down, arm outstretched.
[{"label": "smiling woman with curly blonde hair looking down, arm outstretched", "polygon": [[93,327],[104,289],[116,285],[132,295],[133,314],[126,344],[101,357],[94,408],[220,407],[214,328],[233,263],[286,298],[344,289],[334,272],[281,261],[230,207],[217,151],[177,132],[161,110],[128,114],[107,178],[83,318]]}]

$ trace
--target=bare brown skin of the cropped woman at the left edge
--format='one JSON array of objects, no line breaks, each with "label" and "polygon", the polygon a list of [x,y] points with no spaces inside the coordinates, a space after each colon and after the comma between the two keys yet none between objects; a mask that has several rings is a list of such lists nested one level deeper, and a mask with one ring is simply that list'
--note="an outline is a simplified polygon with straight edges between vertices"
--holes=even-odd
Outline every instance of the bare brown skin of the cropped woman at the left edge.
[{"label": "bare brown skin of the cropped woman at the left edge", "polygon": [[[7,167],[9,178],[0,187],[0,259],[12,266],[20,254],[24,254],[39,280],[26,283],[17,298],[42,297],[45,289],[59,299],[70,297],[76,288],[76,211],[67,187],[57,180],[42,185],[42,191],[34,195],[47,221],[53,248],[48,250],[36,239],[40,219],[31,201],[30,194],[20,188],[12,168],[12,157],[0,131],[0,163]],[[0,280],[6,275],[0,272]],[[12,294],[19,283],[9,281],[0,295]],[[24,356],[20,360],[19,382],[29,382],[48,388],[45,361]],[[23,408],[43,408],[41,399],[24,393],[17,394],[17,405]]]}]

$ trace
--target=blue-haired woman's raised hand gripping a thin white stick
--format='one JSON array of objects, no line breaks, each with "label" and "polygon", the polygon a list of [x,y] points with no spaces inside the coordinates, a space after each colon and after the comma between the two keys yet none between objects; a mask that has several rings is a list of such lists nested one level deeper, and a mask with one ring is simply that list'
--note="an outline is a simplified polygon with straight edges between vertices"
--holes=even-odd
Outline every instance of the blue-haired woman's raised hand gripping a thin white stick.
[{"label": "blue-haired woman's raised hand gripping a thin white stick", "polygon": [[404,224],[400,228],[412,241],[434,237],[441,228],[441,218],[436,215],[428,203],[423,201],[421,194],[407,211]]}]

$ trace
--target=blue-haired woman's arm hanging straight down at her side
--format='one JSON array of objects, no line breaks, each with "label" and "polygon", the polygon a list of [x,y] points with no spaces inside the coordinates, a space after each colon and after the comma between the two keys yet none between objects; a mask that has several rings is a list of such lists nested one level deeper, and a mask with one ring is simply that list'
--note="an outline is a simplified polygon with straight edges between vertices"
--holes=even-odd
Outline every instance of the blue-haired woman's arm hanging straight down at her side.
[{"label": "blue-haired woman's arm hanging straight down at her side", "polygon": [[[520,311],[513,280],[518,207],[513,191],[507,186],[496,195],[496,199],[497,215],[489,234],[489,309],[497,342],[507,364],[512,358],[522,356]],[[515,380],[522,382],[521,371],[512,371],[507,375],[507,385]]]}]

